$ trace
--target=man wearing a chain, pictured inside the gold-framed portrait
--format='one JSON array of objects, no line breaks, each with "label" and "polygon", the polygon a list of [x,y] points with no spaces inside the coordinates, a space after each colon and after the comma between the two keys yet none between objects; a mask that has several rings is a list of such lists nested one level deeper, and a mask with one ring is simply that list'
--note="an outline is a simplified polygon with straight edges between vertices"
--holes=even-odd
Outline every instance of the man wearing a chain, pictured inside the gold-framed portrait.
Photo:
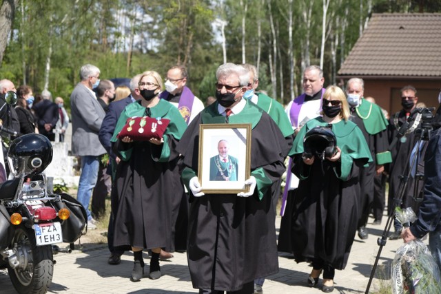
[{"label": "man wearing a chain, pictured inside the gold-framed portrait", "polygon": [[228,141],[219,140],[218,155],[210,158],[209,180],[237,181],[238,160],[229,155],[228,151]]}]

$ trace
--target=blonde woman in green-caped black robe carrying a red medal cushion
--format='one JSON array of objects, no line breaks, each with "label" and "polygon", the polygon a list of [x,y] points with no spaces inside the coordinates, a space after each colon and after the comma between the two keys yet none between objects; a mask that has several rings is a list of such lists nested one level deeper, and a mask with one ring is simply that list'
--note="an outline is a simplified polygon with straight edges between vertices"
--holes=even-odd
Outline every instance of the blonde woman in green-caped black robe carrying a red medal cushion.
[{"label": "blonde woman in green-caped black robe carrying a red medal cushion", "polygon": [[[132,246],[132,282],[138,282],[143,277],[143,249],[152,250],[150,278],[156,280],[161,277],[158,261],[161,248],[172,246],[172,198],[176,197],[174,192],[181,185],[176,169],[179,155],[176,144],[187,127],[178,109],[158,98],[163,83],[157,72],[145,72],[139,89],[143,98],[125,107],[111,140],[121,158],[116,166],[116,193],[112,193],[114,246]],[[170,123],[161,140],[133,140],[130,136],[118,139],[117,135],[127,119],[135,116],[150,116],[157,120],[157,123],[150,124],[140,120],[139,126],[130,120],[127,131],[135,134],[147,134],[150,130],[156,132],[154,125],[163,124],[162,119],[170,120]]]}]

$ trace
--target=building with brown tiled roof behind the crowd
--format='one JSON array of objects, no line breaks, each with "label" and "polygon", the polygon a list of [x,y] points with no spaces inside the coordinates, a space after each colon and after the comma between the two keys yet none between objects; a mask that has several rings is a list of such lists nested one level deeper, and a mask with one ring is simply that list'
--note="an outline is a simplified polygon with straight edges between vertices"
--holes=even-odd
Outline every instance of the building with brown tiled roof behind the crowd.
[{"label": "building with brown tiled roof behind the crowd", "polygon": [[413,85],[418,102],[438,107],[441,89],[441,13],[372,14],[337,78],[365,81],[365,96],[373,96],[389,114],[402,109],[400,89]]}]

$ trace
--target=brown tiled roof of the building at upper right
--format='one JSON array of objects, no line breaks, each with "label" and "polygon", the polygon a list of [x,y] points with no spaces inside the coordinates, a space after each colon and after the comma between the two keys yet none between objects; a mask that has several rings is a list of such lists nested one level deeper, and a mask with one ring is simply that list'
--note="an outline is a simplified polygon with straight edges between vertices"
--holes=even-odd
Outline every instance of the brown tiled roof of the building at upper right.
[{"label": "brown tiled roof of the building at upper right", "polygon": [[441,76],[441,13],[372,14],[338,75]]}]

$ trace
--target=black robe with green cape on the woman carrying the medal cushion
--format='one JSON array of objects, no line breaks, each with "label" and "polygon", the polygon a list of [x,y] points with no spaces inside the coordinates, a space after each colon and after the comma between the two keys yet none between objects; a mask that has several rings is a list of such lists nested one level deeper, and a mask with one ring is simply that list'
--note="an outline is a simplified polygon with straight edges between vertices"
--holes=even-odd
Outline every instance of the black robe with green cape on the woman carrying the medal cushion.
[{"label": "black robe with green cape on the woman carrying the medal cushion", "polygon": [[150,110],[151,117],[170,119],[163,145],[122,143],[116,139],[127,118],[144,115],[145,107],[140,103],[125,107],[112,137],[121,158],[116,166],[116,193],[112,191],[114,246],[161,247],[170,251],[174,248],[173,213],[181,200],[177,191],[183,189],[176,167],[176,145],[187,125],[178,109],[167,101],[161,100]]}]

